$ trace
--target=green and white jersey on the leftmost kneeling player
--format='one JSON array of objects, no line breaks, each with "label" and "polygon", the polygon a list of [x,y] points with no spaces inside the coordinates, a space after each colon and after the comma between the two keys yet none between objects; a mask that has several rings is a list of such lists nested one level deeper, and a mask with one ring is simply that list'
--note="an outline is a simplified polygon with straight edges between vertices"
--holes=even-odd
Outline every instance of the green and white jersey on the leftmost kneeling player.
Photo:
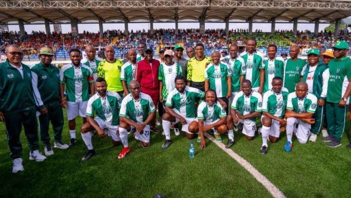
[{"label": "green and white jersey on the leftmost kneeling player", "polygon": [[122,98],[116,92],[107,91],[105,98],[101,98],[98,93],[88,100],[86,115],[94,116],[104,120],[107,124],[119,125],[119,109]]}]

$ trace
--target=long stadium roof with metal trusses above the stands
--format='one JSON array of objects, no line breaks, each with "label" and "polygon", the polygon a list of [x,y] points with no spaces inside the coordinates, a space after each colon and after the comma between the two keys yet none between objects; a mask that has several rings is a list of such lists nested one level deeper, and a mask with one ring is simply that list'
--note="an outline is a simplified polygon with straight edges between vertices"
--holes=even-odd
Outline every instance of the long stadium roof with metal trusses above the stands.
[{"label": "long stadium roof with metal trusses above the stands", "polygon": [[351,0],[0,0],[0,23],[314,21],[351,16]]}]

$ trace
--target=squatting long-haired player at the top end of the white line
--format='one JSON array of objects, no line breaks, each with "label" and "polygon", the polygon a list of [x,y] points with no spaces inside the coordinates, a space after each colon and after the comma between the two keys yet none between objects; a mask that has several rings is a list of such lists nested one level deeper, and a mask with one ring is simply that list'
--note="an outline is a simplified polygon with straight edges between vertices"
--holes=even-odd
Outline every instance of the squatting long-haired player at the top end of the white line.
[{"label": "squatting long-haired player at the top end of the white line", "polygon": [[205,100],[197,107],[198,128],[201,137],[200,149],[206,147],[204,133],[211,129],[215,132],[217,141],[222,141],[220,134],[227,132],[227,114],[222,108],[214,90],[209,89],[205,93]]}]

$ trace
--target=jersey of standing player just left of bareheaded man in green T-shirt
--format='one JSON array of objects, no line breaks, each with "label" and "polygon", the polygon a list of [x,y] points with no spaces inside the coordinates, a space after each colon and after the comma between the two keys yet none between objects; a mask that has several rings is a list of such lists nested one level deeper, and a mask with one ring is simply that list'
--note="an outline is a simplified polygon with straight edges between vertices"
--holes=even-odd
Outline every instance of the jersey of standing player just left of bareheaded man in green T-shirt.
[{"label": "jersey of standing player just left of bareheaded man in green T-shirt", "polygon": [[265,66],[265,84],[263,92],[272,89],[272,80],[274,77],[281,77],[284,79],[284,61],[279,58],[273,60],[267,58],[264,60]]}]

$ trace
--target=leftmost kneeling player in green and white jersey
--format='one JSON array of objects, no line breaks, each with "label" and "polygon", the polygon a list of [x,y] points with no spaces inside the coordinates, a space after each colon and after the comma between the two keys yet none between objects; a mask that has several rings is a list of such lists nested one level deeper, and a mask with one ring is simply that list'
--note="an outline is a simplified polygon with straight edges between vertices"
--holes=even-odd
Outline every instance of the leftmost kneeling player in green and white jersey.
[{"label": "leftmost kneeling player in green and white jersey", "polygon": [[[98,77],[95,82],[97,93],[88,100],[87,105],[87,122],[81,127],[81,136],[88,148],[88,153],[82,158],[83,161],[95,155],[92,143],[92,134],[94,129],[97,130],[100,138],[106,135],[111,136],[112,143],[117,146],[121,143],[119,138],[119,109],[122,99],[117,92],[107,91],[106,80]],[[94,119],[94,114],[97,117]]]}]

